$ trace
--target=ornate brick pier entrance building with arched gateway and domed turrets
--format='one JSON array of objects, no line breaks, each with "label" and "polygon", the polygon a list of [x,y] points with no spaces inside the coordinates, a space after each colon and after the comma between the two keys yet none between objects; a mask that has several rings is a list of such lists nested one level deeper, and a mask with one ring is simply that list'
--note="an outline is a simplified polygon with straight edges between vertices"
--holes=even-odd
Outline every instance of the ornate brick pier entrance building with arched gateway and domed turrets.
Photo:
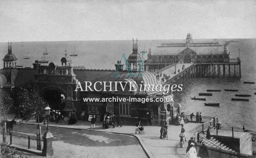
[{"label": "ornate brick pier entrance building with arched gateway and domed turrets", "polygon": [[[119,77],[112,77],[115,70],[88,70],[76,69],[74,63],[67,58],[61,58],[61,66],[58,63],[41,65],[37,61],[33,63],[33,68],[17,68],[15,55],[12,53],[11,45],[8,47],[8,54],[4,57],[4,68],[0,70],[1,88],[8,90],[15,100],[15,106],[18,106],[19,88],[28,88],[39,92],[53,109],[65,112],[67,116],[69,111],[76,111],[80,120],[88,120],[90,115],[96,116],[96,121],[102,121],[104,114],[119,115],[124,123],[135,124],[141,120],[143,124],[150,124],[152,116],[158,117],[158,124],[171,121],[171,118],[179,112],[180,105],[174,105],[174,102],[153,101],[153,102],[84,102],[83,98],[168,98],[172,93],[163,94],[163,91],[152,91],[145,89],[144,84],[159,84],[156,77],[143,71],[143,60],[138,53],[138,45],[133,41],[132,53],[127,61],[134,76],[125,68],[118,71]],[[117,66],[118,68],[118,66]],[[142,70],[142,71],[141,71]],[[139,75],[141,74],[141,76]],[[96,92],[94,89],[101,89],[102,85],[97,84],[93,87],[93,92],[74,91],[78,82],[84,87],[85,81],[94,84],[97,81],[120,81],[122,85],[116,85],[118,92]],[[126,81],[132,81],[137,91],[129,92],[129,84]],[[142,85],[143,91],[139,91]],[[124,90],[121,89],[124,87]],[[110,88],[110,87],[107,87]],[[114,90],[115,87],[112,88]],[[63,102],[64,99],[64,102]]]}]

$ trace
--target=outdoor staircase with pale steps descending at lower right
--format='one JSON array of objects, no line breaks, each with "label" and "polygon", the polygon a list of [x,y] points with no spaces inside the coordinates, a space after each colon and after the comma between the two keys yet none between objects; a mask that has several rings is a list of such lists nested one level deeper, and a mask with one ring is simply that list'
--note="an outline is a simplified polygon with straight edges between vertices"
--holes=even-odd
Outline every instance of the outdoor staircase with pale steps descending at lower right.
[{"label": "outdoor staircase with pale steps descending at lower right", "polygon": [[223,149],[223,150],[226,150],[229,152],[236,152],[233,148],[228,147],[227,145],[221,143],[221,141],[219,141],[218,139],[213,138],[213,137],[211,137],[210,140],[202,139],[202,142],[204,142],[206,146]]}]

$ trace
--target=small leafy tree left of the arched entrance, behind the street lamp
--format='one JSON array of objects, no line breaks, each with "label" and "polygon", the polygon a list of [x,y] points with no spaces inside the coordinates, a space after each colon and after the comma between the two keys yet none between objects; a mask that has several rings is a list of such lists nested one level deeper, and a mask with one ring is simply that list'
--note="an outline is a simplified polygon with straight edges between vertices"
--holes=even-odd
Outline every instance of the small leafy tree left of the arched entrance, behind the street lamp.
[{"label": "small leafy tree left of the arched entrance, behind the street lamp", "polygon": [[19,110],[23,114],[24,120],[29,120],[33,115],[36,115],[41,122],[46,102],[37,92],[20,88],[19,102]]}]

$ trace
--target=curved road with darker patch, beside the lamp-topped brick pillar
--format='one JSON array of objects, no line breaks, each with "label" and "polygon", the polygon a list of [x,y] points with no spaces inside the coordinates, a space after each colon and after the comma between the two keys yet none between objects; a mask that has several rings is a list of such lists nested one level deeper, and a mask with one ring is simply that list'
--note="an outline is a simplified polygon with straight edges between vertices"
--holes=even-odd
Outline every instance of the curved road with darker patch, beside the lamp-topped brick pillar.
[{"label": "curved road with darker patch, beside the lamp-topped brick pillar", "polygon": [[[37,125],[17,123],[13,128],[13,135],[36,138],[36,131]],[[41,131],[41,135],[43,135],[46,127],[42,126]],[[50,127],[50,132],[54,136],[52,141],[53,157],[147,157],[138,140],[129,135],[59,127]],[[7,141],[9,142],[9,137]],[[15,145],[28,145],[28,139],[22,137],[13,136],[12,142]],[[31,139],[31,148],[36,149],[36,145],[36,141]]]}]

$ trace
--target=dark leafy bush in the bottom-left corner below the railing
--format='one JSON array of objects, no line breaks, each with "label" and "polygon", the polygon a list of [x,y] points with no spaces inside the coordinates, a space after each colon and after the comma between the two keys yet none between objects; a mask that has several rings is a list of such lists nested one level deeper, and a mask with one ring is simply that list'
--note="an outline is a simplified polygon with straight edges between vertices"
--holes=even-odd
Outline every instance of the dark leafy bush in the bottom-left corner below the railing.
[{"label": "dark leafy bush in the bottom-left corner below the railing", "polygon": [[1,158],[23,158],[20,151],[15,150],[15,148],[10,147],[7,143],[1,143]]}]

